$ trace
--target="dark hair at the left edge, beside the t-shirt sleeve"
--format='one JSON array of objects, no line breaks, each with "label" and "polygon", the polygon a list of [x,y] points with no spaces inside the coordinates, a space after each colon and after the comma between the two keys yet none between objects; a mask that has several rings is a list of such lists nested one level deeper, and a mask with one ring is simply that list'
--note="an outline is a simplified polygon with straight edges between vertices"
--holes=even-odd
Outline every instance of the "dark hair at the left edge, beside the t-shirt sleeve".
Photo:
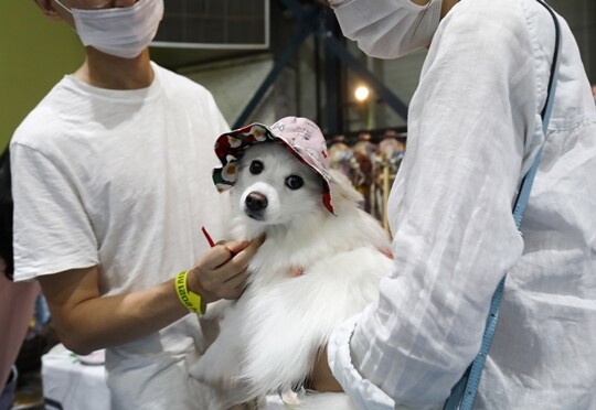
[{"label": "dark hair at the left edge, beside the t-shirt sleeve", "polygon": [[0,157],[0,257],[4,259],[4,274],[12,280],[14,258],[12,253],[12,192],[10,179],[10,152],[7,148]]}]

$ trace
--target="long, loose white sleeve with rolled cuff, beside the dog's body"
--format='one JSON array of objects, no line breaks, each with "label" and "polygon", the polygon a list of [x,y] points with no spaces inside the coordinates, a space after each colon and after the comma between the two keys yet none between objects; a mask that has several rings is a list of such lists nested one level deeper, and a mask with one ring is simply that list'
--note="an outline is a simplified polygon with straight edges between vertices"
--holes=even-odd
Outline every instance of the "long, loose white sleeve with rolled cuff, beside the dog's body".
[{"label": "long, loose white sleeve with rolled cuff, beside the dog's body", "polygon": [[511,209],[542,141],[534,50],[515,4],[459,3],[435,34],[390,197],[394,269],[379,303],[329,344],[333,375],[364,409],[381,407],[361,379],[398,404],[445,400],[521,257]]}]

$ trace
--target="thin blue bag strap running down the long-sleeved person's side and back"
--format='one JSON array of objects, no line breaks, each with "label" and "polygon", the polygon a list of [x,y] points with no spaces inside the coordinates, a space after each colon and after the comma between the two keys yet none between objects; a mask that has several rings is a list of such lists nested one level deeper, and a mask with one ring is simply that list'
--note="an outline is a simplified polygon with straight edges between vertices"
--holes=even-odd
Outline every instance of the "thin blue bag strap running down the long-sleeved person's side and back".
[{"label": "thin blue bag strap running down the long-sleeved person's side and back", "polygon": [[[551,114],[553,110],[554,95],[556,90],[556,82],[558,78],[558,54],[561,48],[561,26],[554,11],[546,6],[542,0],[536,0],[542,4],[549,13],[551,13],[554,23],[555,23],[555,51],[553,54],[553,62],[551,65],[551,76],[549,78],[549,93],[546,95],[546,104],[544,109],[541,112],[542,117],[542,130],[544,132],[544,138],[546,138],[546,132],[549,130],[549,121],[551,120]],[[523,214],[525,212],[525,206],[528,205],[528,199],[530,197],[530,191],[532,190],[532,184],[534,182],[534,176],[536,174],[540,158],[542,155],[542,147],[536,153],[532,166],[525,174],[522,180],[518,197],[515,199],[515,205],[513,206],[513,219],[515,220],[515,226],[518,230],[521,230],[521,223],[523,219]],[[451,389],[450,396],[445,401],[443,407],[444,410],[470,410],[473,406],[476,399],[476,392],[478,391],[478,385],[480,384],[480,377],[482,375],[482,369],[485,368],[485,363],[487,360],[488,352],[492,343],[492,337],[494,336],[494,331],[497,328],[497,322],[499,320],[499,308],[501,305],[501,300],[503,298],[505,277],[501,279],[497,290],[494,291],[492,299],[490,301],[489,315],[487,317],[487,324],[485,327],[485,334],[482,335],[482,343],[480,345],[480,352],[471,363],[470,367],[466,370],[461,379]]]}]

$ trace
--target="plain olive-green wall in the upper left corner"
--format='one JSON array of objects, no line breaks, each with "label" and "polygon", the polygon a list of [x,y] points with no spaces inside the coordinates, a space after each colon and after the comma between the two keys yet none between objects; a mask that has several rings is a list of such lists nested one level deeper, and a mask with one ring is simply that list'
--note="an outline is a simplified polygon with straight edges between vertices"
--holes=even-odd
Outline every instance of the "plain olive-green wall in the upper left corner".
[{"label": "plain olive-green wall in the upper left corner", "polygon": [[84,50],[64,22],[33,0],[0,0],[0,149],[52,86],[83,63]]}]

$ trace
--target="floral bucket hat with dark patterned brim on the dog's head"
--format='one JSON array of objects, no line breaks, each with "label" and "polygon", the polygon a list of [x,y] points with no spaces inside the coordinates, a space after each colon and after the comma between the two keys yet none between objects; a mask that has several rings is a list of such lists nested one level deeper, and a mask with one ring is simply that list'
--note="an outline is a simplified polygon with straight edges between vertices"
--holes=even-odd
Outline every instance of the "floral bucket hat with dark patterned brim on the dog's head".
[{"label": "floral bucket hat with dark patterned brim on the dog's head", "polygon": [[333,213],[329,181],[329,159],[324,137],[315,122],[307,118],[285,117],[270,127],[263,123],[226,132],[215,141],[215,154],[222,166],[213,170],[213,182],[217,191],[230,190],[236,182],[237,162],[251,145],[276,142],[288,149],[299,161],[321,175],[323,182],[322,202]]}]

